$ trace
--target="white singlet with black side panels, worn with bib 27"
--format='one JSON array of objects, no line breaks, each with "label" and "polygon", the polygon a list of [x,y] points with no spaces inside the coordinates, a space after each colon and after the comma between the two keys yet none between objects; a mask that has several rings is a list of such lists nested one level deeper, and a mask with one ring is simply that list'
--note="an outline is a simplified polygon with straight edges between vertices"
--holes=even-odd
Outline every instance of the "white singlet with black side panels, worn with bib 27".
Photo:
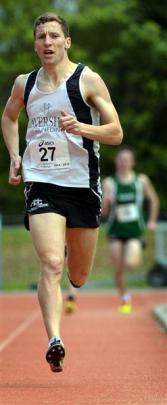
[{"label": "white singlet with black side panels, worn with bib 27", "polygon": [[25,182],[82,188],[99,185],[99,143],[59,128],[61,111],[80,122],[99,125],[99,113],[86,104],[81,94],[84,68],[79,64],[69,79],[52,92],[38,89],[37,74],[27,101],[27,147],[22,163]]}]

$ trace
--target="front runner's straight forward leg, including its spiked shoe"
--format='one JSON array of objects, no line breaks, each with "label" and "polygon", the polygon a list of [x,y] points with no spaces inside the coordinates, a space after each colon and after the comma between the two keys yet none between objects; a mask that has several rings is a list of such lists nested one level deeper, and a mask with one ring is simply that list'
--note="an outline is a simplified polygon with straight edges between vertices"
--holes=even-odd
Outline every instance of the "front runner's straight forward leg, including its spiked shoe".
[{"label": "front runner's straight forward leg, including its spiked shoe", "polygon": [[65,218],[58,214],[30,216],[31,235],[41,262],[38,298],[50,341],[46,359],[51,364],[52,371],[62,371],[62,358],[65,354],[59,339],[62,315],[60,279],[64,265],[65,225]]}]

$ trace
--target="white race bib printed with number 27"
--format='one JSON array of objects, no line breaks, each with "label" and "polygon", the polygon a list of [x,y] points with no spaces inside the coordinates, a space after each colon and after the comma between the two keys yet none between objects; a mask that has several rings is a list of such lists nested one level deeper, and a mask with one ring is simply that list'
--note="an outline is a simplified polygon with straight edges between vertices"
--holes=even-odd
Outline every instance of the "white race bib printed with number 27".
[{"label": "white race bib printed with number 27", "polygon": [[31,168],[61,170],[70,168],[70,155],[66,140],[45,138],[29,145]]}]

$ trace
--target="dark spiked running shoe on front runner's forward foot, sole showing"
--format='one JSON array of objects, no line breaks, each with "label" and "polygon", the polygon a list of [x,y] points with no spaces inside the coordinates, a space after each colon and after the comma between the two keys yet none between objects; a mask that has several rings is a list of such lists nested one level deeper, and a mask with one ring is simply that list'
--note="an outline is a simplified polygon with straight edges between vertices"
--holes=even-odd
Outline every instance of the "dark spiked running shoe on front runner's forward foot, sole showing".
[{"label": "dark spiked running shoe on front runner's forward foot, sole showing", "polygon": [[65,349],[62,340],[56,337],[52,338],[46,353],[46,360],[50,364],[50,368],[53,372],[58,373],[63,371],[64,357]]}]

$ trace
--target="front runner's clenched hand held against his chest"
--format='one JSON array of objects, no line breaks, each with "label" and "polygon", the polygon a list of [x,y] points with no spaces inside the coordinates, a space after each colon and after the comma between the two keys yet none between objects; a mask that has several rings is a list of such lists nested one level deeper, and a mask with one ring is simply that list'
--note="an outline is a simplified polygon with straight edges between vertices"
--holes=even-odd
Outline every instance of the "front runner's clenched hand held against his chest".
[{"label": "front runner's clenched hand held against his chest", "polygon": [[74,135],[81,135],[81,123],[67,112],[61,112],[60,128],[62,131],[70,132]]}]

